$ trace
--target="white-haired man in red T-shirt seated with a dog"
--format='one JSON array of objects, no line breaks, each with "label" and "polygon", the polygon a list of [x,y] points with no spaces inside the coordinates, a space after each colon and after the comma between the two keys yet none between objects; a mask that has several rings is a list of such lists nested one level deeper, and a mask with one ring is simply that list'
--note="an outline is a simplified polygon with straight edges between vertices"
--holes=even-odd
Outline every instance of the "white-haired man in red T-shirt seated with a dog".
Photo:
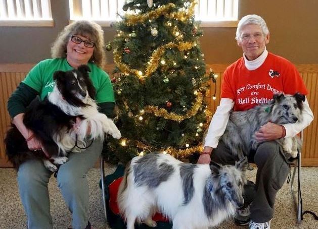
[{"label": "white-haired man in red T-shirt seated with a dog", "polygon": [[[212,159],[221,164],[235,164],[238,160],[219,141],[232,109],[250,109],[259,103],[267,103],[274,94],[281,92],[291,95],[296,92],[308,94],[296,67],[266,50],[269,31],[260,16],[243,17],[238,24],[236,40],[243,49],[243,57],[230,65],[223,74],[220,105],[210,123],[198,163],[209,163]],[[307,99],[304,101],[302,116],[303,120],[295,124],[277,125],[269,122],[255,133],[256,140],[264,141],[256,151],[249,152],[250,162],[257,165],[256,185],[249,182],[244,186],[246,205],[238,210],[235,220],[237,224],[249,224],[250,229],[270,229],[276,194],[289,173],[288,160],[273,140],[294,137],[310,124],[313,114]]]}]

